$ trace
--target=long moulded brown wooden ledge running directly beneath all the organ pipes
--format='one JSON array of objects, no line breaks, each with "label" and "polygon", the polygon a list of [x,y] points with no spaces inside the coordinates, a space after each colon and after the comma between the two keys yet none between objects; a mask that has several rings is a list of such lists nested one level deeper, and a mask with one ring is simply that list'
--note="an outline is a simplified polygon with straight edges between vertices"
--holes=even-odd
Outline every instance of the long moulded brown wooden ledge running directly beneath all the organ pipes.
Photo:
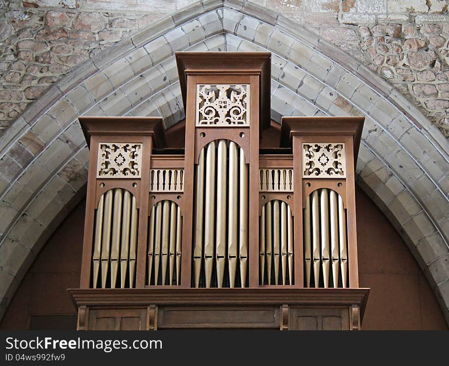
[{"label": "long moulded brown wooden ledge running directly beneath all the organ pipes", "polygon": [[76,306],[303,305],[365,311],[369,288],[120,288],[67,290]]}]

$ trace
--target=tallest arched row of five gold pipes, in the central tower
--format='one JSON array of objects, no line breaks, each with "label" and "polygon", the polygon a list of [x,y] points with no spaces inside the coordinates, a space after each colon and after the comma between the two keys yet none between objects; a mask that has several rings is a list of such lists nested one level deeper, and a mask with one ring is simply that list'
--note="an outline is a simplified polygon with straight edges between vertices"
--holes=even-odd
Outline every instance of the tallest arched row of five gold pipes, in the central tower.
[{"label": "tallest arched row of five gold pipes, in the central tower", "polygon": [[248,165],[235,142],[212,141],[195,166],[193,286],[246,286]]}]

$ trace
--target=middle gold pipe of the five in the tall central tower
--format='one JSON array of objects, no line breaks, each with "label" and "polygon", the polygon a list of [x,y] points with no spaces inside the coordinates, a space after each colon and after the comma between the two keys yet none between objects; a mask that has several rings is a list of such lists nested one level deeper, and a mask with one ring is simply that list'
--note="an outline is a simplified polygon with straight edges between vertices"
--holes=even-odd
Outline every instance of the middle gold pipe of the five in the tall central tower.
[{"label": "middle gold pipe of the five in the tall central tower", "polygon": [[[226,140],[218,142],[217,154],[217,219],[215,239],[215,265],[217,286],[223,286],[224,260],[226,256],[226,190],[227,190],[227,146]],[[207,220],[208,216],[206,216]]]}]

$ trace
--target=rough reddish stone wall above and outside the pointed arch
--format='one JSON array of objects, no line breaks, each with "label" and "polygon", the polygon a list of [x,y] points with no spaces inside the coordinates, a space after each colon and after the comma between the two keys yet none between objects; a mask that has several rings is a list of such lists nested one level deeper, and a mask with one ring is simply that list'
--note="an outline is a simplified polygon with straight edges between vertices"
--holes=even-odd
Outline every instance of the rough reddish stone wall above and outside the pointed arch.
[{"label": "rough reddish stone wall above and outside the pointed arch", "polygon": [[[448,2],[254,0],[363,62],[400,90],[446,137]],[[190,3],[0,0],[0,130],[73,67]]]}]

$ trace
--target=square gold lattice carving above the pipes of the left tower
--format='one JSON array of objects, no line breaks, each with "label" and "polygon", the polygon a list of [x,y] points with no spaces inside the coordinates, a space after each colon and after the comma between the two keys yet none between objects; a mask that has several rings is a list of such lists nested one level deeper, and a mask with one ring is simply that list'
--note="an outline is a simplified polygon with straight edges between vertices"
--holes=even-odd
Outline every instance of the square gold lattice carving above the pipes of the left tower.
[{"label": "square gold lattice carving above the pipes of the left tower", "polygon": [[141,143],[98,143],[97,178],[140,178]]}]

